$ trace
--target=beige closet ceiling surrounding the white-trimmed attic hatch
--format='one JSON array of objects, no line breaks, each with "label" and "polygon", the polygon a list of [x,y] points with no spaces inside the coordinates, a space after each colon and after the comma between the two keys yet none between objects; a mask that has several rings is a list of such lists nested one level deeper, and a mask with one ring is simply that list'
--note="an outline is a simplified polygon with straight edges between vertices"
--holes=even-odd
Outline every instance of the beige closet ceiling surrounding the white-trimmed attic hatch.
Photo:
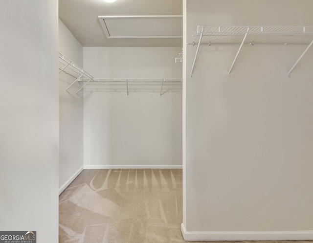
[{"label": "beige closet ceiling surrounding the white-trimmed attic hatch", "polygon": [[182,46],[182,38],[107,39],[99,15],[182,15],[182,0],[59,0],[60,20],[83,46]]}]

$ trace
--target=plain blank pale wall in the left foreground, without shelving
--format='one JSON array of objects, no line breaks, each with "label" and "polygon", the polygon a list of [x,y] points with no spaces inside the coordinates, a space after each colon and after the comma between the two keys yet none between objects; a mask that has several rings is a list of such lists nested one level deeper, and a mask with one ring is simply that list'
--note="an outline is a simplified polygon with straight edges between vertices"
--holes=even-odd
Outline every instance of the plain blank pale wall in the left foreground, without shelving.
[{"label": "plain blank pale wall in the left foreground, without shelving", "polygon": [[55,243],[58,2],[1,1],[0,29],[0,230]]}]

